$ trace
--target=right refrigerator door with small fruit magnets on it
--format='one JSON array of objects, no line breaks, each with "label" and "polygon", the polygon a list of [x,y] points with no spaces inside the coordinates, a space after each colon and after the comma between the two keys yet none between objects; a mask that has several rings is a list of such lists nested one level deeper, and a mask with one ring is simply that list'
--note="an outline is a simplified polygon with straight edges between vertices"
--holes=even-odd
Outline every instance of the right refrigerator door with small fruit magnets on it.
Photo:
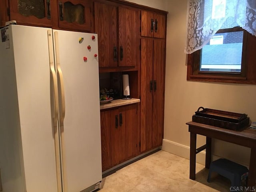
[{"label": "right refrigerator door with small fruit magnets on it", "polygon": [[60,54],[66,108],[61,128],[64,189],[78,192],[102,180],[97,35],[53,32],[58,33],[55,48]]}]

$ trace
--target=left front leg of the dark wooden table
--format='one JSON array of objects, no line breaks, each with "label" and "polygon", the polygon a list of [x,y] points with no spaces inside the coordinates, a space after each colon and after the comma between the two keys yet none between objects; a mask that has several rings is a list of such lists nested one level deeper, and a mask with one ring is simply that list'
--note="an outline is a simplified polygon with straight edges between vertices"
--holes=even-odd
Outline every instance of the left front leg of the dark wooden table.
[{"label": "left front leg of the dark wooden table", "polygon": [[190,132],[190,169],[189,178],[196,179],[196,133]]}]

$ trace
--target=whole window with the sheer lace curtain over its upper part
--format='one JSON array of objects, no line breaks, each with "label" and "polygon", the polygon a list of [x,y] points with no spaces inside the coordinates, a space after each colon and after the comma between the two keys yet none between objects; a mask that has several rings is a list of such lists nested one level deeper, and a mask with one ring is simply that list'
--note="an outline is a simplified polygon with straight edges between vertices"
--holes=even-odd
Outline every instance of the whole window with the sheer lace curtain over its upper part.
[{"label": "whole window with the sheer lace curtain over its upper part", "polygon": [[[253,30],[247,31],[234,27],[238,26],[238,17],[233,16],[236,13],[230,8],[237,2],[195,2],[197,1],[190,0],[191,17],[188,20],[188,43],[185,51],[188,53],[187,80],[256,84],[254,25],[251,26]],[[196,6],[198,9],[194,9]],[[241,5],[237,12],[239,10],[246,10],[247,15],[249,9]],[[245,11],[241,13],[244,14]],[[252,15],[255,15],[253,11]],[[196,19],[193,20],[194,18]]]}]

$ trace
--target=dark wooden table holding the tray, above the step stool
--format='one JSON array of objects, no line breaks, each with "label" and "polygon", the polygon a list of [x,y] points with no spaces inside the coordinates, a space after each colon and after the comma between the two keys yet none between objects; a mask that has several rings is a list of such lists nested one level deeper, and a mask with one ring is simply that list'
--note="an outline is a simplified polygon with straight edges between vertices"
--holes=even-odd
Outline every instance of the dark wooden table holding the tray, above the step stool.
[{"label": "dark wooden table holding the tray, above the step stool", "polygon": [[[244,128],[239,131],[223,129],[196,122],[187,122],[190,132],[190,173],[196,179],[196,154],[206,149],[205,167],[210,168],[212,138],[251,148],[248,186],[255,186],[256,180],[256,130]],[[206,144],[196,148],[196,134],[206,136]]]}]

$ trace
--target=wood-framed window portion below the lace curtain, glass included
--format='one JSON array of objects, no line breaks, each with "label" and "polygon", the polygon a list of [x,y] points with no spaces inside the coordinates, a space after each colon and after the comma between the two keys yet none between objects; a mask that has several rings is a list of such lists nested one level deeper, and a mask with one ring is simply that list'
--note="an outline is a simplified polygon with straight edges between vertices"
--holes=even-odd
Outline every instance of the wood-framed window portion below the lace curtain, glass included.
[{"label": "wood-framed window portion below the lace curtain, glass included", "polygon": [[[239,27],[216,36],[220,32],[223,44],[209,43],[188,54],[187,80],[256,84],[256,36]],[[234,42],[226,43],[228,35],[236,36]]]}]

